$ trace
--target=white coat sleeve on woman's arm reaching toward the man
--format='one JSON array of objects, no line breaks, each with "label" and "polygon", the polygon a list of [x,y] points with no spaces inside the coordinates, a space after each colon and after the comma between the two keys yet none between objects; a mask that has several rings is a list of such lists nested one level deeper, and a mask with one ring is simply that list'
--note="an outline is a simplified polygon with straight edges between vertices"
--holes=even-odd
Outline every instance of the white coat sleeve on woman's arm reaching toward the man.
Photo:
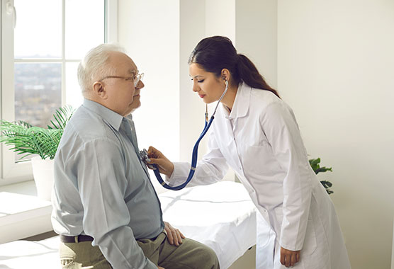
[{"label": "white coat sleeve on woman's arm reaching toward the man", "polygon": [[[177,186],[184,183],[190,168],[191,164],[187,162],[174,163],[174,171],[172,172],[171,177],[167,178],[169,185]],[[227,161],[218,147],[215,132],[211,129],[208,140],[208,153],[203,156],[201,161],[197,162],[196,172],[187,187],[216,183],[225,176],[227,171]]]}]

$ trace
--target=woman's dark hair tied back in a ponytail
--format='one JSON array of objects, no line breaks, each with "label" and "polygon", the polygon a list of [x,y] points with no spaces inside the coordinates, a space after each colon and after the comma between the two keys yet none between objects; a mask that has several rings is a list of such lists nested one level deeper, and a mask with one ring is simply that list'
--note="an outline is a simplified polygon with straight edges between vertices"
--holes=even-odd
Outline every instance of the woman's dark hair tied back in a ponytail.
[{"label": "woman's dark hair tied back in a ponytail", "polygon": [[266,83],[252,61],[245,55],[237,53],[229,38],[213,36],[198,42],[188,58],[188,64],[192,63],[200,65],[204,70],[218,77],[222,69],[228,69],[235,84],[244,81],[252,88],[271,91],[280,98],[278,92]]}]

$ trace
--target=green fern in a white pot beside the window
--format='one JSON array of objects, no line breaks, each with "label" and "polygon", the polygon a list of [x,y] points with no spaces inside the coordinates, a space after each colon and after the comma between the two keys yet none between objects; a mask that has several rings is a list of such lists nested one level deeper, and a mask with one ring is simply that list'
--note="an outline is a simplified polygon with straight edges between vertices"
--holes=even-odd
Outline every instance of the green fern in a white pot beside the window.
[{"label": "green fern in a white pot beside the window", "polygon": [[2,136],[0,142],[11,146],[12,151],[24,154],[21,159],[38,155],[31,159],[37,195],[50,200],[53,185],[53,159],[63,135],[64,127],[74,113],[71,106],[58,108],[47,128],[32,126],[28,122],[0,122]]}]

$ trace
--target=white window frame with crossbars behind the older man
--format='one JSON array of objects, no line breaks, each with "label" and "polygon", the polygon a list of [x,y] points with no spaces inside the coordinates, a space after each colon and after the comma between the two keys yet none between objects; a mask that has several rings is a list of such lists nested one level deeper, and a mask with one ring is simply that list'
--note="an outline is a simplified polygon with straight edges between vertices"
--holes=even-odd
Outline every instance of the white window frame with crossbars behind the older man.
[{"label": "white window frame with crossbars behind the older man", "polygon": [[[18,62],[62,64],[62,105],[66,100],[66,64],[80,59],[65,58],[65,4],[62,1],[62,57],[60,59],[14,59],[13,58],[13,0],[1,1],[1,44],[0,44],[0,118],[13,121],[15,118],[14,64]],[[7,4],[9,8],[7,8]],[[11,8],[10,8],[11,5]],[[118,0],[104,0],[104,42],[118,42]],[[8,13],[7,13],[8,11]],[[17,12],[17,11],[16,11]],[[17,17],[16,17],[17,18]],[[10,41],[11,40],[11,41]],[[8,68],[7,68],[8,67]],[[12,67],[12,68],[10,68]],[[4,143],[0,144],[0,185],[9,185],[33,179],[30,161],[16,163],[14,152]]]}]

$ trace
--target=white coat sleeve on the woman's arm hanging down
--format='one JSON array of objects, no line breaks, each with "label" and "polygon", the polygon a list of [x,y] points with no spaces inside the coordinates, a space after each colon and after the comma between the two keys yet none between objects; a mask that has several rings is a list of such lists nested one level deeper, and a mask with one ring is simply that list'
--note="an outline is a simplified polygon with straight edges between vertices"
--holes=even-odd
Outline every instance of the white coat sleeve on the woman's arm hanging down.
[{"label": "white coat sleeve on the woman's arm hanging down", "polygon": [[308,156],[293,111],[286,103],[271,103],[260,121],[279,166],[286,172],[279,243],[298,251],[303,248],[312,196]]}]

